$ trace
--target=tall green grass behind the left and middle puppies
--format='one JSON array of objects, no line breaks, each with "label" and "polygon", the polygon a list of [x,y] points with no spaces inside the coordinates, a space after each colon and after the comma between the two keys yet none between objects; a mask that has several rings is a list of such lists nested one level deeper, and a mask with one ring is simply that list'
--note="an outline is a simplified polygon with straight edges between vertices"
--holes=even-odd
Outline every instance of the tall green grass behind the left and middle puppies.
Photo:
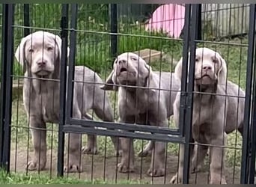
[{"label": "tall green grass behind the left and middle puppies", "polygon": [[[60,34],[61,4],[30,4],[30,19],[31,32],[43,29]],[[24,36],[22,4],[16,4],[14,20],[14,49],[16,49]],[[76,65],[88,66],[100,74],[110,70],[112,56],[109,32],[109,4],[79,4]],[[144,25],[135,24],[131,20],[129,22],[126,19],[118,20],[118,33],[118,54],[145,48],[180,52],[182,47],[180,40],[172,40],[163,32],[148,32]],[[179,50],[176,50],[177,48]],[[13,72],[15,75],[22,74],[19,64],[15,63]]]}]

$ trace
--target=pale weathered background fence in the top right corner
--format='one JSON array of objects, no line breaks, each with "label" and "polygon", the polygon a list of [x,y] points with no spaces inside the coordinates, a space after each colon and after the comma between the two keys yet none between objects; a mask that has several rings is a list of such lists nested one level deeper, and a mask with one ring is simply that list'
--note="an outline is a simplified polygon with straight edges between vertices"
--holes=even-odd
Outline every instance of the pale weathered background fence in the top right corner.
[{"label": "pale weathered background fence in the top right corner", "polygon": [[204,36],[219,40],[249,31],[249,4],[202,4]]}]

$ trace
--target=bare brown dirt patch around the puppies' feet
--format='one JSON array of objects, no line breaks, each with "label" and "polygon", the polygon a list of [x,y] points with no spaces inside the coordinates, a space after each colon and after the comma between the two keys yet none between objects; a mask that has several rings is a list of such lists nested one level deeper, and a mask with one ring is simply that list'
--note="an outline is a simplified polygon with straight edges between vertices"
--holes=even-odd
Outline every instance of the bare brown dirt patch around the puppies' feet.
[{"label": "bare brown dirt patch around the puppies' feet", "polygon": [[[25,173],[25,166],[28,160],[33,155],[32,152],[27,150],[12,150],[10,170],[19,173]],[[57,151],[48,150],[47,163],[45,171],[40,171],[42,174],[49,174],[52,177],[56,176],[57,168]],[[120,158],[119,158],[120,159]],[[167,168],[165,177],[148,177],[146,172],[150,166],[150,157],[138,158],[135,156],[135,172],[132,174],[121,174],[117,171],[116,165],[118,164],[118,158],[115,156],[109,156],[104,158],[102,155],[82,155],[82,166],[83,172],[80,174],[68,174],[68,176],[78,177],[82,180],[107,180],[107,181],[118,181],[118,180],[140,180],[141,182],[153,183],[153,184],[165,184],[169,183],[171,177],[177,172],[177,156],[168,156]],[[207,184],[209,169],[207,165],[202,168],[202,171],[196,174],[190,174],[189,183],[196,184]],[[29,173],[38,173],[38,171],[28,171]],[[67,174],[65,174],[67,176]],[[240,183],[240,168],[226,168],[226,180],[229,184]]]}]

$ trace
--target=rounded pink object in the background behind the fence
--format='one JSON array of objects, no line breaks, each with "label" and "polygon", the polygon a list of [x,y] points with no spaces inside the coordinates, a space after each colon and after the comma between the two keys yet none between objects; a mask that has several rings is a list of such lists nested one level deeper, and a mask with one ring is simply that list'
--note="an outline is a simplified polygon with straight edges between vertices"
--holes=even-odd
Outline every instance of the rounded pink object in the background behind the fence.
[{"label": "rounded pink object in the background behind the fence", "polygon": [[183,29],[185,7],[180,4],[164,4],[156,8],[146,25],[147,31],[165,31],[178,38]]}]

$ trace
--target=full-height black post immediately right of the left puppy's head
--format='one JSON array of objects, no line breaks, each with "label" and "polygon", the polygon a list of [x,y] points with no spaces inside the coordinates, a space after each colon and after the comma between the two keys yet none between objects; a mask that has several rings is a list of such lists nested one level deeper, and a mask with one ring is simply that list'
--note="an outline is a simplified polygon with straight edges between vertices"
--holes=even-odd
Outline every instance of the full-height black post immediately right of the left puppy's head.
[{"label": "full-height black post immediately right of the left puppy's head", "polygon": [[64,174],[64,131],[63,126],[66,120],[66,91],[67,91],[67,24],[68,4],[62,4],[61,13],[61,75],[60,75],[60,121],[58,126],[58,164],[57,175]]}]

